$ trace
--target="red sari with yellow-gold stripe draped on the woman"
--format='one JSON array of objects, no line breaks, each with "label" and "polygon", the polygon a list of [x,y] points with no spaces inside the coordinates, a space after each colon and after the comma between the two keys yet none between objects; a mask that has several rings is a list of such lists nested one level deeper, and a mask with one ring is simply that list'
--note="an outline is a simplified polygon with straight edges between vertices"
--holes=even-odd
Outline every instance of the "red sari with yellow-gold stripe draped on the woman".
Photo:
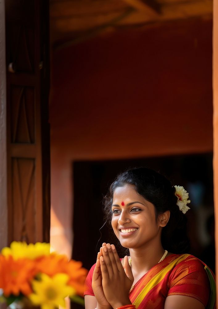
[{"label": "red sari with yellow-gold stripe draped on the woman", "polygon": [[[84,295],[93,295],[92,275],[86,279]],[[207,309],[216,308],[216,286],[208,267],[189,254],[172,254],[154,265],[134,285],[130,300],[138,309],[163,309],[167,296],[184,295],[198,299]]]}]

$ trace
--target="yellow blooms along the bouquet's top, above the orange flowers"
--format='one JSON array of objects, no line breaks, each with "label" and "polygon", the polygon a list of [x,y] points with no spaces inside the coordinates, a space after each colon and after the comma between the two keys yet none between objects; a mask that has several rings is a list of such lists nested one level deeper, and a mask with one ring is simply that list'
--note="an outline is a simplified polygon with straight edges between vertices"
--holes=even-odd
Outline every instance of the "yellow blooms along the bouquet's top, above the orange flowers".
[{"label": "yellow blooms along the bouquet's top, above the orange flowers", "polygon": [[3,256],[12,256],[14,260],[20,258],[29,258],[34,260],[39,256],[45,256],[50,254],[49,243],[30,243],[27,245],[25,242],[13,241],[9,247],[2,249]]}]

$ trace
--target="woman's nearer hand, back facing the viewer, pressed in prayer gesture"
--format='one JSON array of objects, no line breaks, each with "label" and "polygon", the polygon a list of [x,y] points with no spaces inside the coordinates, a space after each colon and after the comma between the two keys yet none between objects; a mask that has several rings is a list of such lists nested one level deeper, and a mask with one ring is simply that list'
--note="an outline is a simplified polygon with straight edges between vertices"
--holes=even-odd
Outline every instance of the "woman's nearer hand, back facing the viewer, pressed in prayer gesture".
[{"label": "woman's nearer hand, back facing the viewer, pressed in prayer gesture", "polygon": [[107,301],[113,308],[131,304],[129,291],[134,277],[128,257],[125,256],[122,266],[115,246],[109,243],[103,246],[102,253],[103,256],[100,256],[102,286]]}]

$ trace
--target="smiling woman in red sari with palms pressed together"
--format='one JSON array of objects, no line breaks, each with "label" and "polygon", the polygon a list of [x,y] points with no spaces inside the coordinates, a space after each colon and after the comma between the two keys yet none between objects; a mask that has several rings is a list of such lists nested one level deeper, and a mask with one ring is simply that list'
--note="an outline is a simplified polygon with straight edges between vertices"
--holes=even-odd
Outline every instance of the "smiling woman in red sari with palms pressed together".
[{"label": "smiling woman in red sari with palms pressed together", "polygon": [[215,308],[215,281],[189,254],[188,193],[147,168],[120,174],[105,198],[105,213],[130,256],[103,243],[86,279],[85,308]]}]

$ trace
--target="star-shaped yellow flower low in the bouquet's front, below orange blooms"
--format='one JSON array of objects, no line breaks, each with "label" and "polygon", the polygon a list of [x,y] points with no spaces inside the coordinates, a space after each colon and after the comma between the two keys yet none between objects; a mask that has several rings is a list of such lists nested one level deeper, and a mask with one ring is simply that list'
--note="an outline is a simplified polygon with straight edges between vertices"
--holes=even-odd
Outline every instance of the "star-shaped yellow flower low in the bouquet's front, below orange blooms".
[{"label": "star-shaped yellow flower low in the bouquet's front, below orange blooms", "polygon": [[64,298],[75,294],[75,290],[67,285],[69,276],[65,273],[56,274],[54,277],[42,273],[40,279],[32,281],[35,293],[28,297],[34,305],[39,305],[42,309],[54,309],[59,305],[65,307]]}]

